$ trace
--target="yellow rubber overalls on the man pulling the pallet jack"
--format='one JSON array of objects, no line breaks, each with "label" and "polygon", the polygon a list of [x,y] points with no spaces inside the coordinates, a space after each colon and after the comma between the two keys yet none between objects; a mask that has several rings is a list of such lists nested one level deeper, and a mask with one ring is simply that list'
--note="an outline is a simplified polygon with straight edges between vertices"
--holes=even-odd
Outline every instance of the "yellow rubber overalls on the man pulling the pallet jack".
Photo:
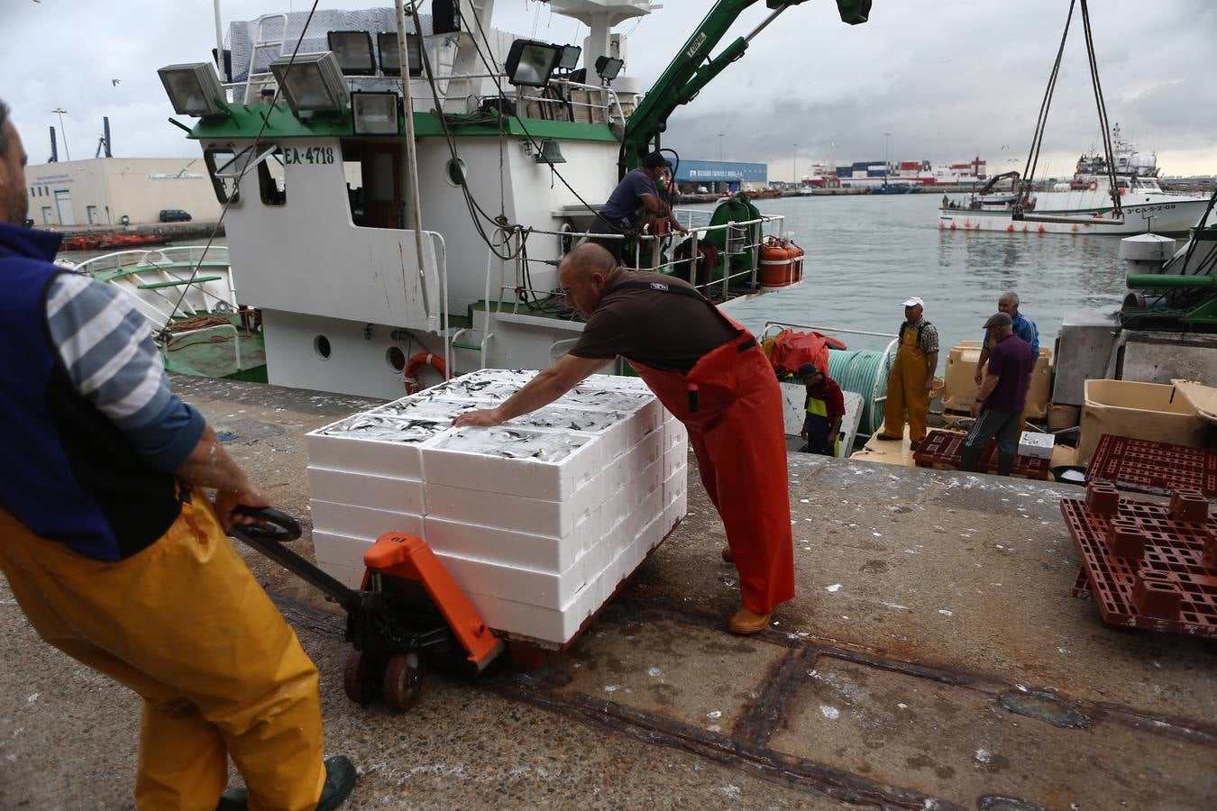
[{"label": "yellow rubber overalls on the man pulling the pallet jack", "polygon": [[316,807],[316,668],[202,490],[118,563],[38,537],[0,509],[0,570],[40,637],[144,698],[140,811],[213,811],[229,756],[249,809]]}]

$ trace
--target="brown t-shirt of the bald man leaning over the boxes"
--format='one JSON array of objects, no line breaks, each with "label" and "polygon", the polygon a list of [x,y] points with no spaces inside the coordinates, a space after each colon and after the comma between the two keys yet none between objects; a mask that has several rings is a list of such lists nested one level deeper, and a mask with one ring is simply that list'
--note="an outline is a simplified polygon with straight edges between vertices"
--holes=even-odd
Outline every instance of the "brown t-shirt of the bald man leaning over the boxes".
[{"label": "brown t-shirt of the bald man leaning over the boxes", "polygon": [[621,355],[664,372],[688,372],[712,349],[735,337],[735,330],[700,298],[646,288],[619,289],[622,282],[658,282],[686,287],[663,274],[618,267],[608,274],[600,306],[571,348],[577,357]]}]

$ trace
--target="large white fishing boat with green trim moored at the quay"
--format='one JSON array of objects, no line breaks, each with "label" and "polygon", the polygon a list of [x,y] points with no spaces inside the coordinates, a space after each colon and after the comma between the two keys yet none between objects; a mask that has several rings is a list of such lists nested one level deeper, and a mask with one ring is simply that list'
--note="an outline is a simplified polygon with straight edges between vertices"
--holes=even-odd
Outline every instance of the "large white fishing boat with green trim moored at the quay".
[{"label": "large white fishing boat with green trim moored at the quay", "polygon": [[[183,128],[224,205],[240,302],[262,314],[270,383],[396,398],[548,366],[583,327],[559,260],[662,148],[668,114],[747,47],[712,57],[748,5],[717,4],[644,96],[611,29],[647,0],[553,0],[590,28],[582,47],[492,28],[493,0],[452,5],[400,26],[392,7],[265,15],[218,44],[223,78],[211,62],[159,72],[175,111],[198,118]],[[858,4],[839,5],[846,18]],[[773,288],[759,255],[787,241],[783,218],[741,195],[677,214],[690,237],[644,229],[627,266],[690,278],[724,306]]]}]

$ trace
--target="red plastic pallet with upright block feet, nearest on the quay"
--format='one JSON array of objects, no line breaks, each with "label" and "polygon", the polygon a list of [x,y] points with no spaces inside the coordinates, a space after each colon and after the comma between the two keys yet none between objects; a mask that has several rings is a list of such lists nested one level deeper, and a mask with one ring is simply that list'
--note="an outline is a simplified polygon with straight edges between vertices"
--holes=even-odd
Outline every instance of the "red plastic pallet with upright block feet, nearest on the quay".
[{"label": "red plastic pallet with upright block feet, nearest on the quay", "polygon": [[[1206,544],[1217,542],[1210,537],[1217,534],[1217,518],[1210,516],[1204,524],[1176,522],[1167,506],[1131,499],[1120,500],[1116,516],[1099,516],[1081,499],[1062,499],[1061,514],[1082,558],[1086,586],[1105,624],[1217,637],[1217,568],[1205,562]],[[1111,554],[1107,531],[1117,518],[1135,522],[1145,531],[1140,559]],[[1140,573],[1146,573],[1145,578]],[[1138,587],[1142,580],[1159,585]],[[1075,581],[1075,596],[1078,585]],[[1178,591],[1177,615],[1146,613],[1148,588]]]}]

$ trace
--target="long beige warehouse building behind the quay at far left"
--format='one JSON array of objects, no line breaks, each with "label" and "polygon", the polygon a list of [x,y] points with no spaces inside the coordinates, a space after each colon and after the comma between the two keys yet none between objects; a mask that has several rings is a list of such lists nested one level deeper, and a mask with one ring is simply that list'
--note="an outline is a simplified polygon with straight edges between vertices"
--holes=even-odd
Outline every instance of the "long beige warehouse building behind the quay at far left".
[{"label": "long beige warehouse building behind the quay at far left", "polygon": [[200,158],[90,158],[26,167],[34,225],[157,223],[176,208],[196,220],[219,219],[220,205]]}]

